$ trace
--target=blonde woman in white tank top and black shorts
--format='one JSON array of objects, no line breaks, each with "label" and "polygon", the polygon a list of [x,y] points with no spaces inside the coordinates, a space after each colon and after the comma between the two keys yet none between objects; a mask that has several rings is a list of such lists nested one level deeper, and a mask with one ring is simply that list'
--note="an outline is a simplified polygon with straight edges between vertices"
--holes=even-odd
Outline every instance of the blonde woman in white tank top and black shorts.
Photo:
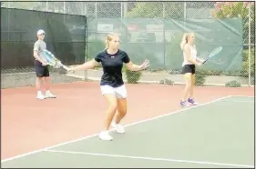
[{"label": "blonde woman in white tank top and black shorts", "polygon": [[183,50],[182,74],[186,81],[182,98],[181,106],[190,106],[197,104],[193,98],[193,89],[195,85],[196,66],[201,65],[202,59],[197,57],[196,45],[194,45],[195,35],[186,33],[183,35],[180,47]]}]

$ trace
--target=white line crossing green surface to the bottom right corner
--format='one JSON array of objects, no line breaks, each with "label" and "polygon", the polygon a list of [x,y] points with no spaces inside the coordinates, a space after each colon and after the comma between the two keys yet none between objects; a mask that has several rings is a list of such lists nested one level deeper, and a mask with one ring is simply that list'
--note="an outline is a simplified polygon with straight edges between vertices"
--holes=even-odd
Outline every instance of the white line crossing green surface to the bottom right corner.
[{"label": "white line crossing green surface to the bottom right corner", "polygon": [[130,158],[130,159],[141,159],[141,160],[151,160],[151,161],[178,162],[178,163],[189,163],[189,164],[212,164],[212,165],[222,165],[222,166],[254,168],[253,165],[246,165],[246,164],[221,164],[221,163],[215,163],[215,162],[189,161],[189,160],[178,160],[178,159],[171,159],[171,158],[153,158],[153,157],[146,157],[146,156],[129,156],[129,155],[120,155],[120,154],[95,154],[95,153],[70,152],[70,151],[59,151],[59,150],[45,150],[45,152],[63,153],[63,154],[84,154],[84,155]]}]

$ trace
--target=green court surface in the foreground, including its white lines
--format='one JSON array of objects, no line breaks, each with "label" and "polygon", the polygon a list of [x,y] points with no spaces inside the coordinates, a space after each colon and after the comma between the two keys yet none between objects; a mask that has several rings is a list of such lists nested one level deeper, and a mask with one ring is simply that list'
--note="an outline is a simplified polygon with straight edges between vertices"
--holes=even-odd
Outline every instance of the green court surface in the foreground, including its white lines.
[{"label": "green court surface in the foreground, including its white lines", "polygon": [[[157,105],[156,105],[157,106]],[[2,167],[254,167],[254,97],[229,96],[2,161]]]}]

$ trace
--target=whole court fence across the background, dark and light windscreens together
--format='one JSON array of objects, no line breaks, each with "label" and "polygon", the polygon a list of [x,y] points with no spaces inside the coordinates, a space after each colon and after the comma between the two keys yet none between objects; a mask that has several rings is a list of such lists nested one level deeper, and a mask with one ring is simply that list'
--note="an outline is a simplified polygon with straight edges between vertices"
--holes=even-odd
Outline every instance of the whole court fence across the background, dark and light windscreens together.
[{"label": "whole court fence across the background, dark and light windscreens together", "polygon": [[[141,64],[145,58],[150,60],[150,68],[145,71],[135,73],[124,68],[124,78],[131,84],[184,84],[179,44],[185,32],[193,32],[199,57],[206,58],[215,47],[223,47],[220,57],[198,67],[197,85],[255,84],[255,2],[17,4],[6,2],[1,6],[1,17],[3,13],[8,15],[1,18],[2,78],[3,75],[19,78],[21,73],[34,72],[32,47],[40,27],[46,30],[48,50],[70,66],[92,59],[104,49],[106,35],[118,33],[121,48],[134,63]],[[98,81],[102,75],[100,66],[75,74],[63,70],[53,72],[68,81]]]}]

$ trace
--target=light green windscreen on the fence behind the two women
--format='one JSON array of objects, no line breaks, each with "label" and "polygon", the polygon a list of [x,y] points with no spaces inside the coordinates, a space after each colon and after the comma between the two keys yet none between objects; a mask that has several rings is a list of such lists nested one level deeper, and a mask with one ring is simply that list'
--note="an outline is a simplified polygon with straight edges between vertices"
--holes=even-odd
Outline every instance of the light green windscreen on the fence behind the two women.
[{"label": "light green windscreen on the fence behind the two women", "polygon": [[88,58],[104,49],[106,35],[120,35],[121,49],[134,63],[150,60],[150,69],[180,70],[183,55],[179,44],[184,33],[193,32],[198,57],[206,58],[218,46],[220,55],[201,69],[241,70],[242,21],[228,19],[88,18]]}]

